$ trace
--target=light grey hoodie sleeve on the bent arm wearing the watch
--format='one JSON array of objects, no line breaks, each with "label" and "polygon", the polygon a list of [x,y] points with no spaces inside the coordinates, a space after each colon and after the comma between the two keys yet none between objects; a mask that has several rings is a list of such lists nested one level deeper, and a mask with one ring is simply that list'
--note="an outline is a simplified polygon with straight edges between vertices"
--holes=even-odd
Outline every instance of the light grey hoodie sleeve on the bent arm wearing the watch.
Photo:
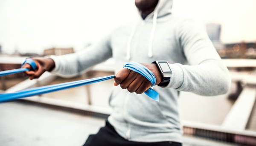
[{"label": "light grey hoodie sleeve on the bent arm wearing the watch", "polygon": [[229,71],[206,32],[190,20],[176,30],[189,65],[170,64],[173,74],[167,87],[205,96],[227,93],[231,84]]}]

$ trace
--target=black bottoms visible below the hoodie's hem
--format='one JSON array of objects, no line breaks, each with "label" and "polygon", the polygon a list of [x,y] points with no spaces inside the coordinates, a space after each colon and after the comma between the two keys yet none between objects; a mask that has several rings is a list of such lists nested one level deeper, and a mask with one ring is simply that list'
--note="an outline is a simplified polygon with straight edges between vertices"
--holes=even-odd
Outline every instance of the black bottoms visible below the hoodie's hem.
[{"label": "black bottoms visible below the hoodie's hem", "polygon": [[96,135],[89,135],[84,146],[182,146],[182,144],[171,141],[156,143],[128,141],[119,136],[114,127],[106,121],[106,126],[99,129]]}]

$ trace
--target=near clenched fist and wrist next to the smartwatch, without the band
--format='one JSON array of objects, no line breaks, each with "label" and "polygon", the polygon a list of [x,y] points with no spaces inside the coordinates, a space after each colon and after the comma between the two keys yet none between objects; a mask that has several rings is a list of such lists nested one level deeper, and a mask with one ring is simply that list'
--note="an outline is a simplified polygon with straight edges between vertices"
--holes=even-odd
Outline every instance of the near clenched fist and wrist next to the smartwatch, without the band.
[{"label": "near clenched fist and wrist next to the smartwatch, without the band", "polygon": [[[145,67],[147,67],[156,77],[156,84],[159,84],[162,80],[162,76],[157,69],[157,65],[153,63],[141,63]],[[118,86],[122,89],[127,89],[129,92],[141,94],[144,93],[148,88],[151,87],[151,82],[146,79],[140,73],[129,70],[128,68],[123,68],[115,76],[114,86]]]}]

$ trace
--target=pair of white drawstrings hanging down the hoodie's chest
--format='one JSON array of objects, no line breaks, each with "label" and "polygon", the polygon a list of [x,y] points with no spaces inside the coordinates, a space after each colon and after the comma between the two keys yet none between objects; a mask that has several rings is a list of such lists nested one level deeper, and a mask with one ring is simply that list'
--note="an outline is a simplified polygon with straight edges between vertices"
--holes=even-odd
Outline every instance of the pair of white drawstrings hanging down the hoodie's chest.
[{"label": "pair of white drawstrings hanging down the hoodie's chest", "polygon": [[[152,52],[152,44],[153,44],[153,39],[154,39],[154,33],[155,33],[155,30],[156,30],[156,27],[157,27],[157,11],[154,12],[154,16],[153,16],[153,27],[152,27],[152,30],[151,30],[151,36],[150,36],[150,39],[149,39],[149,44],[148,44],[148,57],[152,57],[153,56],[153,52]],[[127,43],[127,50],[126,50],[126,60],[130,60],[131,59],[131,41],[132,41],[132,38],[135,34],[135,31],[136,31],[136,25],[137,23],[135,23],[132,31],[131,31],[131,35],[128,39],[128,43]]]}]

